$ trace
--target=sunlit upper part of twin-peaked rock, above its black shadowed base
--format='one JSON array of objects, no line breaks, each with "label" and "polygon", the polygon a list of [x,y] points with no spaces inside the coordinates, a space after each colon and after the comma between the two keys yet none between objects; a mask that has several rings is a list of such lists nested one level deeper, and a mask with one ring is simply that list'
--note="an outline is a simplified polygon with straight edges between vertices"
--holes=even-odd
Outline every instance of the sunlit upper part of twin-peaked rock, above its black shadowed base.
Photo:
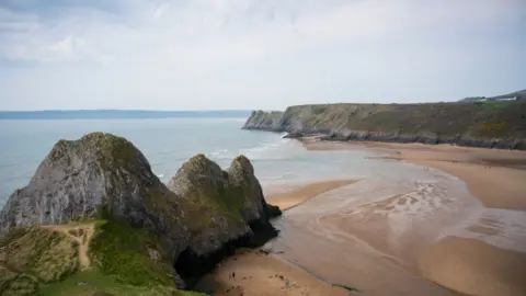
[{"label": "sunlit upper part of twin-peaked rock, above its black shadowed base", "polygon": [[219,250],[226,242],[253,236],[251,226],[267,224],[270,215],[260,182],[244,156],[237,157],[226,171],[197,155],[185,162],[168,187],[186,203],[188,248],[197,255]]}]

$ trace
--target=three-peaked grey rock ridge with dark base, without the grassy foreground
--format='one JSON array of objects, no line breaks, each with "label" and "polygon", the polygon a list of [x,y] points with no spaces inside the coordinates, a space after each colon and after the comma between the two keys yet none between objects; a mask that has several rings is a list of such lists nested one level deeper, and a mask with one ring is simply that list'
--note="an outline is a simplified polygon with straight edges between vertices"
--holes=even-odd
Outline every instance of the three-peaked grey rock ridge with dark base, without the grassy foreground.
[{"label": "three-peaked grey rock ridge with dark base, without the grassy foreground", "polygon": [[[132,143],[93,133],[55,145],[27,186],[16,190],[0,212],[0,236],[21,227],[92,219],[110,221],[107,229],[100,228],[102,234],[118,234],[115,229],[121,228],[112,226],[115,223],[146,229],[155,237],[150,242],[138,237],[139,241],[130,243],[150,246],[155,253],[163,254],[172,265],[172,280],[184,287],[184,282],[188,283],[185,277],[206,272],[225,254],[226,247],[276,236],[268,223],[270,209],[273,207],[266,205],[250,161],[242,156],[226,171],[203,155],[196,156],[167,186]],[[113,237],[118,236],[106,236],[104,243],[96,243],[98,236],[93,238],[93,246],[101,248],[93,257],[100,259],[102,270],[112,271],[110,265],[119,264],[112,261],[123,254],[115,251],[113,243],[121,240]],[[112,255],[103,255],[107,252]]]}]

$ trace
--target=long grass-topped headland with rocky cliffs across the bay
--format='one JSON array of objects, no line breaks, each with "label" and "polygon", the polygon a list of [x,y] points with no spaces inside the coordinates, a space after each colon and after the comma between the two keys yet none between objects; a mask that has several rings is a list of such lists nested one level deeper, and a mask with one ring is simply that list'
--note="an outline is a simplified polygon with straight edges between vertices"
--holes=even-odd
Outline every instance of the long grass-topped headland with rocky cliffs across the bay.
[{"label": "long grass-topped headland with rocky cliffs across the bay", "polygon": [[526,101],[297,105],[254,111],[244,129],[373,140],[526,150]]}]

